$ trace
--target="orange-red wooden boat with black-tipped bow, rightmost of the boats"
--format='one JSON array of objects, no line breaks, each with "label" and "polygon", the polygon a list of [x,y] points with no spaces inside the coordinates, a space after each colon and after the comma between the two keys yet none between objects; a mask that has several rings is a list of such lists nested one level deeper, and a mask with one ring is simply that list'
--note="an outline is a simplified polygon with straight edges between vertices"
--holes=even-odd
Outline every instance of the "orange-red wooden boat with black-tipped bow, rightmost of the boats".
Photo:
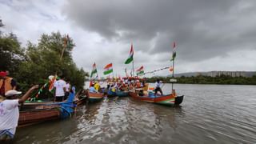
[{"label": "orange-red wooden boat with black-tipped bow, rightmost of the boats", "polygon": [[138,99],[140,101],[151,102],[151,103],[156,103],[156,104],[165,105],[165,106],[179,105],[183,101],[183,95],[176,96],[175,94],[154,96],[154,94],[143,94],[143,93],[139,93],[139,91],[136,90],[136,92],[130,91],[129,95],[132,98]]}]

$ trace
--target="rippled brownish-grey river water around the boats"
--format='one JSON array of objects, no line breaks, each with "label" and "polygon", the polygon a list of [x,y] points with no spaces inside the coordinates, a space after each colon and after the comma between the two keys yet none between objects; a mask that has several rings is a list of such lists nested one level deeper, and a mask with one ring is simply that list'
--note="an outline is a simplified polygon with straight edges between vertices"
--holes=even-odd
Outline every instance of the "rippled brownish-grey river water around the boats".
[{"label": "rippled brownish-grey river water around the boats", "polygon": [[[163,86],[170,92],[170,84]],[[19,128],[28,143],[256,143],[256,86],[181,85],[179,107],[105,98],[72,118]]]}]

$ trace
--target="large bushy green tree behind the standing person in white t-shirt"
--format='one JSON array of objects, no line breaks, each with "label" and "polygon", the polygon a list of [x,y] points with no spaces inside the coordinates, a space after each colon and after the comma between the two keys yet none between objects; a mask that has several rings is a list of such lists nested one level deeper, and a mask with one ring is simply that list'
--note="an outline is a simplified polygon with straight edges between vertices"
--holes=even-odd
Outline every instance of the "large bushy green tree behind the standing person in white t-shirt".
[{"label": "large bushy green tree behind the standing person in white t-shirt", "polygon": [[28,42],[25,61],[18,67],[15,75],[22,90],[26,90],[35,83],[45,83],[49,75],[63,75],[71,85],[81,89],[84,86],[85,78],[88,76],[82,69],[73,62],[71,50],[74,42],[70,38],[70,46],[65,49],[62,59],[60,58],[64,48],[65,36],[59,32],[42,34],[38,45]]}]

